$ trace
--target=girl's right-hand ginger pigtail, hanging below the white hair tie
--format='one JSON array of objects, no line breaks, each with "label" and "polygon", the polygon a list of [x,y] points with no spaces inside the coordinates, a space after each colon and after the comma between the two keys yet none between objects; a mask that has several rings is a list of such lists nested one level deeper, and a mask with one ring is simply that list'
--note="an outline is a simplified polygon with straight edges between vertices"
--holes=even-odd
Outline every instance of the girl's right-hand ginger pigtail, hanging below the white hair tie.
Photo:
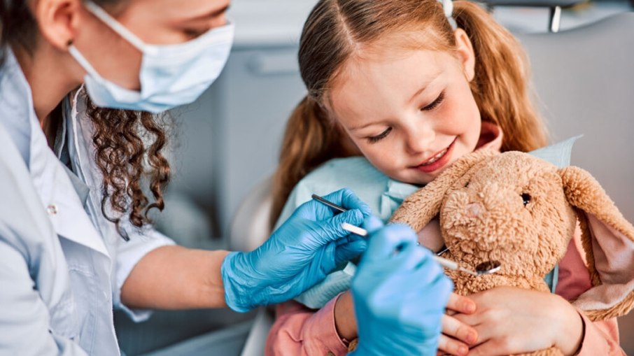
[{"label": "girl's right-hand ginger pigtail, hanging below the white hair tie", "polygon": [[471,90],[482,120],[504,132],[502,151],[528,152],[546,145],[544,124],[530,100],[528,58],[519,41],[475,3],[456,1],[453,17],[474,47]]}]

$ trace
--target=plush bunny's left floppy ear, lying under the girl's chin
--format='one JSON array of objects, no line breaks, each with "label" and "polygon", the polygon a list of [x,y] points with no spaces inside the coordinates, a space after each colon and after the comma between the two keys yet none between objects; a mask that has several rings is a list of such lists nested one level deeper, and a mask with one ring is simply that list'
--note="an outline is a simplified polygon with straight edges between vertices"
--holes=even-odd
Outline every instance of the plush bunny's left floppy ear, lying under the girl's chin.
[{"label": "plush bunny's left floppy ear, lying under the girl's chin", "polygon": [[412,193],[394,212],[391,222],[402,222],[414,231],[420,231],[440,212],[445,194],[453,183],[465,176],[472,166],[487,157],[498,155],[494,150],[481,149],[465,155],[445,169],[435,180]]}]

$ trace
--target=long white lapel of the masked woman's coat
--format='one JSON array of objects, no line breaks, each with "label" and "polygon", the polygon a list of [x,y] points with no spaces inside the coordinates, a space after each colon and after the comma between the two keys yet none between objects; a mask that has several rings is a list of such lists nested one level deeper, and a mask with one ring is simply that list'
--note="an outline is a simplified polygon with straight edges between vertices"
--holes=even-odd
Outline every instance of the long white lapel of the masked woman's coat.
[{"label": "long white lapel of the masked woman's coat", "polygon": [[13,51],[6,48],[5,54],[0,68],[0,124],[22,155],[42,208],[59,236],[108,256],[64,166],[48,147],[34,111],[31,88]]}]

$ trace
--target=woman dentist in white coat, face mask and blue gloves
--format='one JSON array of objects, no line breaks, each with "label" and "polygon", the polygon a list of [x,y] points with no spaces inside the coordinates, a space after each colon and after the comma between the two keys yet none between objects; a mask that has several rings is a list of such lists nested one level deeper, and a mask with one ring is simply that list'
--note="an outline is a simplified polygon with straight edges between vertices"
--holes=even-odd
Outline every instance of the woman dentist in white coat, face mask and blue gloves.
[{"label": "woman dentist in white coat, face mask and blue gloves", "polygon": [[[157,113],[218,77],[229,1],[93,1],[0,1],[0,354],[118,355],[113,308],[136,321],[248,311],[366,247],[355,355],[435,354],[451,282],[410,229],[368,218],[348,190],[326,197],[346,213],[304,204],[253,252],[181,248],[150,227],[169,180]],[[364,224],[369,245],[342,222]]]}]

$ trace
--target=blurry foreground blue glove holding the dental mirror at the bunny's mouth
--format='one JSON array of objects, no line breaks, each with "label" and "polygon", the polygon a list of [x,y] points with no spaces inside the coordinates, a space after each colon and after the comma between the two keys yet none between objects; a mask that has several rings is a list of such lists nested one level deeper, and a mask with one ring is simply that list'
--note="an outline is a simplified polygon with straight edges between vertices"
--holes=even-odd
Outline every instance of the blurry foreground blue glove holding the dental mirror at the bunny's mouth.
[{"label": "blurry foreground blue glove holding the dental mirror at the bunny's mouth", "polygon": [[349,355],[436,355],[451,280],[409,227],[374,217],[364,227],[369,244],[352,281],[359,343]]}]

